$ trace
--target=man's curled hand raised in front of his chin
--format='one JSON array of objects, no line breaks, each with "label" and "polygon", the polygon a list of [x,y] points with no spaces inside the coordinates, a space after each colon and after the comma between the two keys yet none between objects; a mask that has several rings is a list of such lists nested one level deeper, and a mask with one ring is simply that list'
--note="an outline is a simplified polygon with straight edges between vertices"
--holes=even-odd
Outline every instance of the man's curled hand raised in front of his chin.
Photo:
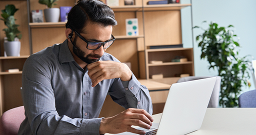
[{"label": "man's curled hand raised in front of his chin", "polygon": [[122,81],[131,79],[131,70],[125,63],[115,61],[97,61],[87,65],[88,75],[95,86],[103,79],[120,78]]}]

